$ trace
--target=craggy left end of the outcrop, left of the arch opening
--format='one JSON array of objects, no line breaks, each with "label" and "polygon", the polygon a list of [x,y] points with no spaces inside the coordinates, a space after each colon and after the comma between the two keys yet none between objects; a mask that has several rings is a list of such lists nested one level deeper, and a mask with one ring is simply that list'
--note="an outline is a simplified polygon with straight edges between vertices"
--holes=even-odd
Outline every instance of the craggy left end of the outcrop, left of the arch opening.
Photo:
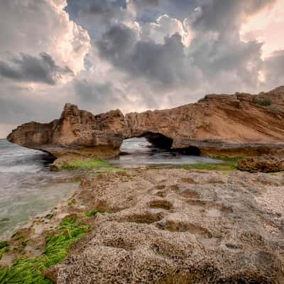
[{"label": "craggy left end of the outcrop, left of the arch opening", "polygon": [[56,158],[66,155],[108,158],[119,153],[126,129],[124,115],[119,110],[94,116],[73,104],[65,104],[60,119],[49,124],[23,124],[7,139]]}]

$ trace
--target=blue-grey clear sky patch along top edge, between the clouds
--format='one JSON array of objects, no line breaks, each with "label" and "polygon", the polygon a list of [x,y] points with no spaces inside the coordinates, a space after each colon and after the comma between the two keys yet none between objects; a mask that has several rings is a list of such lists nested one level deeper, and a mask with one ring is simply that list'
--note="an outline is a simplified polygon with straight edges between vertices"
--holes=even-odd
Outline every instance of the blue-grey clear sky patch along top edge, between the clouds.
[{"label": "blue-grey clear sky patch along top edge, between the clouds", "polygon": [[[132,0],[136,7],[136,21],[154,22],[158,16],[168,14],[181,21],[192,13],[198,5],[212,0]],[[124,21],[129,17],[126,0],[67,0],[66,11],[70,17],[87,28],[92,37],[97,35],[98,24]],[[130,3],[130,2],[129,2]]]}]

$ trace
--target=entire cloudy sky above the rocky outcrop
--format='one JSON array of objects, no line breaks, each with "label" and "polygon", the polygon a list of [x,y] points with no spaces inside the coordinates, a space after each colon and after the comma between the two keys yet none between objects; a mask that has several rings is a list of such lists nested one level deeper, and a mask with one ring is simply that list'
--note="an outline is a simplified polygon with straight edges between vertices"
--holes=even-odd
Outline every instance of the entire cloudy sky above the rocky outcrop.
[{"label": "entire cloudy sky above the rocky outcrop", "polygon": [[0,138],[284,84],[284,0],[0,0]]}]

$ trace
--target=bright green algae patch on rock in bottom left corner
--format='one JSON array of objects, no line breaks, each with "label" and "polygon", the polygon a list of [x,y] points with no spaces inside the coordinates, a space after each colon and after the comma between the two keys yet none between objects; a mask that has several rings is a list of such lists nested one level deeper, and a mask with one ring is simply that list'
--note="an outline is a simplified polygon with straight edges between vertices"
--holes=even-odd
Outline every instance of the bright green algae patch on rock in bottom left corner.
[{"label": "bright green algae patch on rock in bottom left corner", "polygon": [[0,268],[0,284],[51,284],[43,271],[63,261],[68,247],[87,234],[89,226],[74,217],[62,219],[57,234],[45,238],[45,251],[35,258],[17,258],[11,268]]}]

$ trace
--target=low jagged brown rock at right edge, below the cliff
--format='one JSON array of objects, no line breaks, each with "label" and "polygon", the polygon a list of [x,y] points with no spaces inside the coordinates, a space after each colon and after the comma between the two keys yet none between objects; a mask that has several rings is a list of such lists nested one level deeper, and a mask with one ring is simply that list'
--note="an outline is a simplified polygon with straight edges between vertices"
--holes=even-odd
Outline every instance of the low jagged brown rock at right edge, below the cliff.
[{"label": "low jagged brown rock at right edge, below the cliff", "polygon": [[284,158],[273,155],[261,155],[259,157],[244,158],[238,161],[237,167],[239,170],[247,172],[270,173],[284,170]]}]

